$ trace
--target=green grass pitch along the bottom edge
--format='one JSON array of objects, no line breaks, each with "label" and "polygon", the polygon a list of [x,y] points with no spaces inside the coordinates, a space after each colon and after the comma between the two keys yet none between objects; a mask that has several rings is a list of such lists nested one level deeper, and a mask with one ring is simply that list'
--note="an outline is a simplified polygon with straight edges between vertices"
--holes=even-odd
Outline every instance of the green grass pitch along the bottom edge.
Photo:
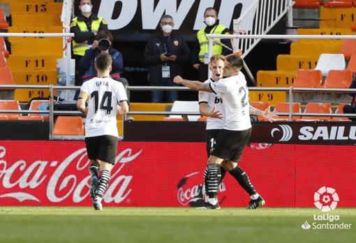
[{"label": "green grass pitch along the bottom edge", "polygon": [[[0,207],[0,242],[355,242],[356,209],[336,208],[348,230],[302,229],[317,209]],[[318,221],[321,222],[321,221]],[[326,221],[322,221],[326,223]]]}]

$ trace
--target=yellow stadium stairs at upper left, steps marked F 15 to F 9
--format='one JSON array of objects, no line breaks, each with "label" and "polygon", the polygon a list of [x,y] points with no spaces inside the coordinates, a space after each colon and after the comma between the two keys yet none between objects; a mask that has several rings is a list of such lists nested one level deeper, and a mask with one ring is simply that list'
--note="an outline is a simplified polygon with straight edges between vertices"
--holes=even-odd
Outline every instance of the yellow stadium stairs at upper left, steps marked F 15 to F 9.
[{"label": "yellow stadium stairs at upper left, steps marked F 15 to F 9", "polygon": [[[62,31],[62,3],[43,0],[0,0],[8,3],[9,33],[58,33]],[[57,84],[57,59],[63,53],[61,38],[8,38],[8,66],[15,84]],[[34,97],[48,97],[45,89],[17,89],[15,100],[29,102]]]}]

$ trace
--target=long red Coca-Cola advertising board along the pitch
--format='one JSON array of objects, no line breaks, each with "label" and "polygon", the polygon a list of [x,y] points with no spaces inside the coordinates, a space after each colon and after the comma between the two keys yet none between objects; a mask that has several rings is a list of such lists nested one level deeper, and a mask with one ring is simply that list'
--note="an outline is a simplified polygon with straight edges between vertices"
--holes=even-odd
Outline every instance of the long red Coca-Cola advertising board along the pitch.
[{"label": "long red Coca-Cola advertising board along the pitch", "polygon": [[[313,207],[328,185],[355,207],[353,146],[251,144],[239,166],[267,207]],[[202,205],[205,143],[121,142],[103,198],[115,207]],[[82,141],[0,141],[0,205],[90,206],[89,159]],[[249,195],[227,173],[218,189],[223,207],[246,207]]]}]

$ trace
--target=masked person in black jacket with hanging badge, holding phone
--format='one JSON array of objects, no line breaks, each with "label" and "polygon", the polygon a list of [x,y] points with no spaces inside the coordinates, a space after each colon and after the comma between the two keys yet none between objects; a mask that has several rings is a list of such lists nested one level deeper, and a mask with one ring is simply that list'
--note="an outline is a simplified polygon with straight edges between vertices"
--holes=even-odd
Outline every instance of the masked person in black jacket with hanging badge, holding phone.
[{"label": "masked person in black jacket with hanging badge, holding phone", "polygon": [[[144,49],[144,63],[149,68],[149,84],[151,86],[176,86],[173,78],[182,74],[182,66],[189,61],[190,49],[186,41],[172,34],[173,17],[163,15],[161,30],[152,36]],[[167,92],[167,102],[175,102],[178,91]],[[163,102],[163,91],[152,91],[152,102]]]}]

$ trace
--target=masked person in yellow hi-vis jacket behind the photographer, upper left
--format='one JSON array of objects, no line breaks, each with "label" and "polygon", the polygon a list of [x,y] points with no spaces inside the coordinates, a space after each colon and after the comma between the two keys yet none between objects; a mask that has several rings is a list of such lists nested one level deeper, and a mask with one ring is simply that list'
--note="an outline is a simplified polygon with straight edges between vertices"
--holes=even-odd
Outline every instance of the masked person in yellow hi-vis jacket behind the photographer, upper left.
[{"label": "masked person in yellow hi-vis jacket behind the photographer, upper left", "polygon": [[80,0],[80,13],[71,22],[71,33],[74,33],[72,50],[73,57],[75,58],[75,85],[79,85],[81,82],[80,77],[82,73],[79,70],[80,58],[91,47],[96,34],[99,31],[107,30],[105,20],[92,13],[92,9],[91,0]]}]

